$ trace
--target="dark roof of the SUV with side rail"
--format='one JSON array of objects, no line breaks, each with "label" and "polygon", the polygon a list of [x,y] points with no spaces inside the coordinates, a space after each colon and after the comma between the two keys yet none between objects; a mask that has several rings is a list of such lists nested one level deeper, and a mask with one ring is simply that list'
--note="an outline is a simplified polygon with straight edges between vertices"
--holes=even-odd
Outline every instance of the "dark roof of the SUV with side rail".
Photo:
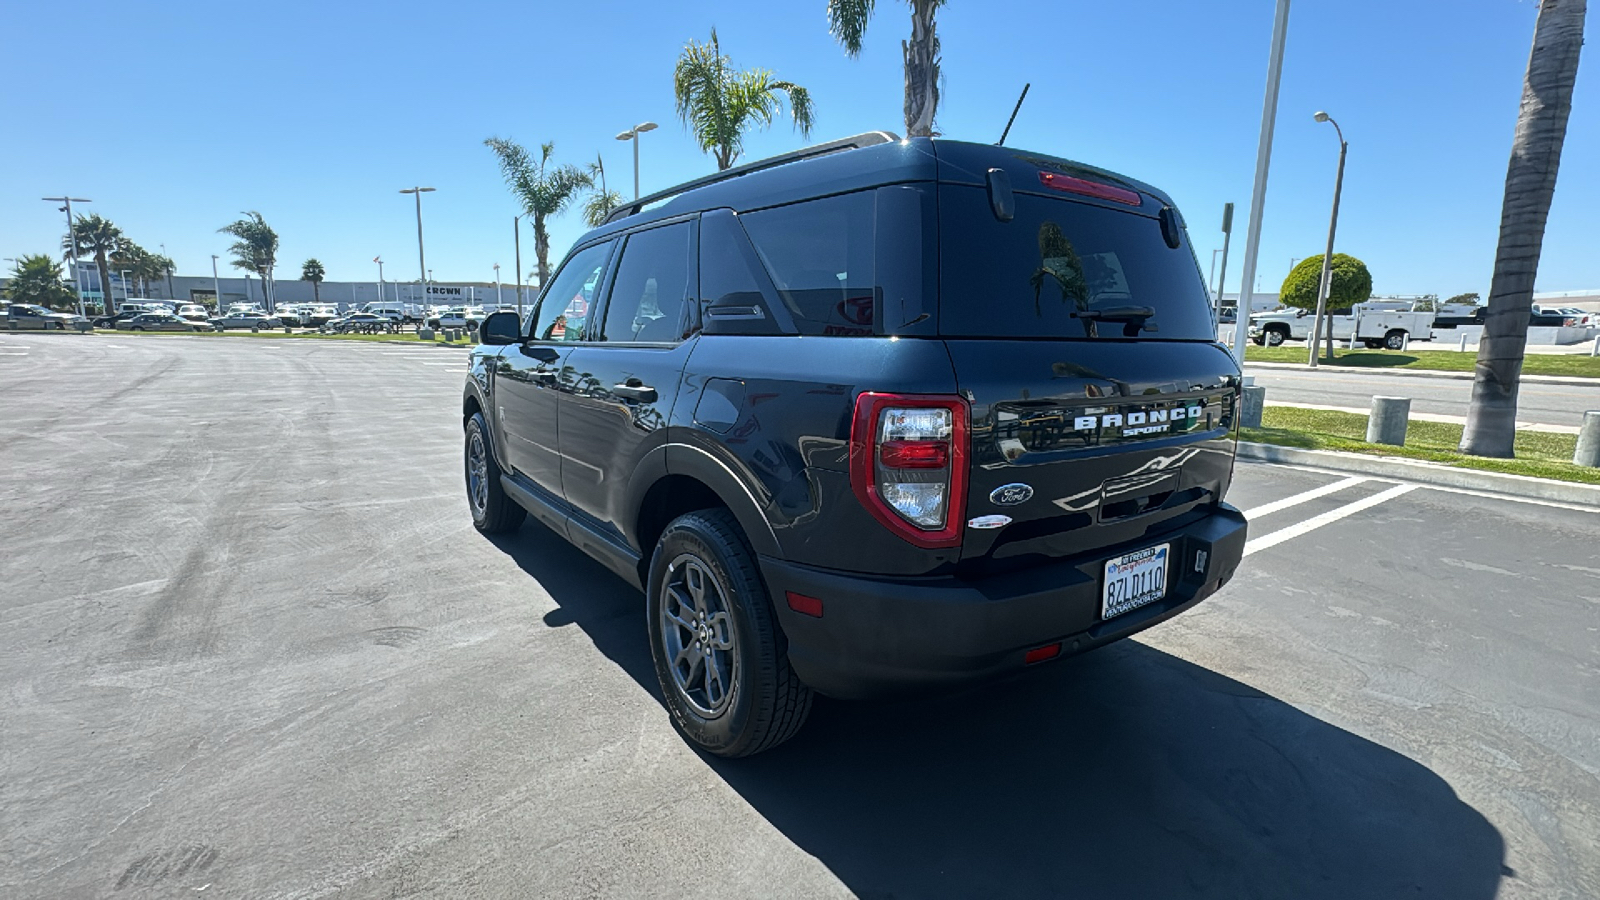
[{"label": "dark roof of the SUV with side rail", "polygon": [[[1013,189],[1019,192],[1046,194],[1048,189],[1042,187],[1038,173],[1053,171],[1144,194],[1150,200],[1141,203],[1144,208],[1139,211],[1152,216],[1163,205],[1171,205],[1165,192],[1142,181],[1050,154],[942,138],[901,139],[888,131],[869,131],[755,160],[627,202],[614,210],[605,224],[579,239],[579,243],[643,223],[702,210],[749,211],[912,181],[984,184],[990,168],[1005,170]],[[1061,197],[1061,194],[1050,195]],[[1072,199],[1102,202],[1077,194]],[[1110,205],[1128,210],[1126,205]]]}]

